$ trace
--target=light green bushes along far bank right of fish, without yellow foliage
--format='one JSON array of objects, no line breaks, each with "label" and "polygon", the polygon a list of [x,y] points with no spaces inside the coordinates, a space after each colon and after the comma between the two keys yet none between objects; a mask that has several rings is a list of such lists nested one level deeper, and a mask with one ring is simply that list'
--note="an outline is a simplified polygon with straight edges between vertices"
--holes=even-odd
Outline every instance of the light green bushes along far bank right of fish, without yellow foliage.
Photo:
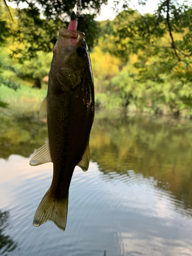
[{"label": "light green bushes along far bank right of fish, without yellow foliage", "polygon": [[[134,75],[133,75],[134,74]],[[127,108],[130,112],[156,114],[191,115],[192,88],[190,83],[181,84],[170,77],[163,83],[136,79],[137,69],[128,62],[108,82],[111,93],[96,94],[96,105],[100,108]]]}]

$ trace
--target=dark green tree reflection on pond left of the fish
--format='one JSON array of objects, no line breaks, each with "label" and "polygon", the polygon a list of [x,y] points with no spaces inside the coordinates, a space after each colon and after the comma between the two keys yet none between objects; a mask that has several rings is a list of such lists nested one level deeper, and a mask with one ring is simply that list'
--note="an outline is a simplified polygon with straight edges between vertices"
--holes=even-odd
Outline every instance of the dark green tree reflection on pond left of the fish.
[{"label": "dark green tree reflection on pond left of the fish", "polygon": [[29,157],[47,137],[47,126],[33,117],[0,116],[0,158]]}]

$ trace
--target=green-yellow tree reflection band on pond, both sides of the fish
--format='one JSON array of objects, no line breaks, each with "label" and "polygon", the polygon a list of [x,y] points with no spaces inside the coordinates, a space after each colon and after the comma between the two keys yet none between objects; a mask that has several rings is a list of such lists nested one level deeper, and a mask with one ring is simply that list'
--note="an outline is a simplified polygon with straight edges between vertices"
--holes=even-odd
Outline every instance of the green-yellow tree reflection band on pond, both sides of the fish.
[{"label": "green-yellow tree reflection band on pond, both sides of the fish", "polygon": [[[104,179],[135,182],[142,174],[168,192],[176,209],[191,215],[191,123],[171,119],[170,124],[169,119],[143,116],[97,116],[90,150],[91,159],[108,176]],[[0,130],[0,158],[4,159],[13,154],[29,157],[48,136],[47,125],[30,117],[0,117]],[[129,170],[138,175],[132,176]]]}]

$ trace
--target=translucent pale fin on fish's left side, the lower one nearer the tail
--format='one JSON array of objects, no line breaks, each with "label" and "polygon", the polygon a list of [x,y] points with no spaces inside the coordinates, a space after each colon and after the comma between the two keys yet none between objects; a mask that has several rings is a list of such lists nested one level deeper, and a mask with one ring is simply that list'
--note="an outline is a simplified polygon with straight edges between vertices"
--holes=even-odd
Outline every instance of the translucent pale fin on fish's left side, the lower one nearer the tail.
[{"label": "translucent pale fin on fish's left side, the lower one nearer the tail", "polygon": [[32,166],[52,162],[51,154],[49,150],[49,140],[45,141],[45,144],[42,145],[37,152],[32,156],[29,164]]}]

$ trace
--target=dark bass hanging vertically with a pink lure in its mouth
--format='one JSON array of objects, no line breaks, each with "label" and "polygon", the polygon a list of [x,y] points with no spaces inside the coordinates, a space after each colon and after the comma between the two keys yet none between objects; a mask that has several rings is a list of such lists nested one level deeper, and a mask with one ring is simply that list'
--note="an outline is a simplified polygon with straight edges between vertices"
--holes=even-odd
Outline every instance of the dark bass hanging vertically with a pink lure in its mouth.
[{"label": "dark bass hanging vertically with a pink lure in its mouth", "polygon": [[72,14],[68,29],[61,28],[53,48],[48,93],[40,106],[47,113],[48,139],[32,156],[30,165],[53,162],[53,179],[33,219],[33,226],[52,221],[65,231],[69,187],[75,166],[87,171],[89,138],[94,120],[94,83],[83,32]]}]

